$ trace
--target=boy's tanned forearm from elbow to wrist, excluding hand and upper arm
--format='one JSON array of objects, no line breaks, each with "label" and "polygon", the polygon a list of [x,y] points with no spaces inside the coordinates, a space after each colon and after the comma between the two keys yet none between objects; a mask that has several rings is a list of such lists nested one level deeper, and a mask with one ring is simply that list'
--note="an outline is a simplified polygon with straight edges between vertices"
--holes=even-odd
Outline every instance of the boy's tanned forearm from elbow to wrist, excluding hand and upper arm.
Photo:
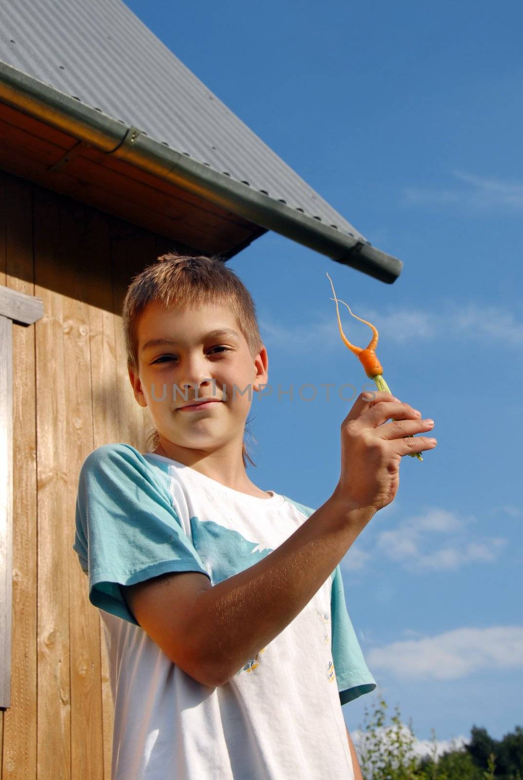
[{"label": "boy's tanned forearm from elbow to wrist, excluding hand and upper arm", "polygon": [[228,682],[299,615],[374,514],[333,495],[260,562],[198,594],[191,645],[214,686]]}]

